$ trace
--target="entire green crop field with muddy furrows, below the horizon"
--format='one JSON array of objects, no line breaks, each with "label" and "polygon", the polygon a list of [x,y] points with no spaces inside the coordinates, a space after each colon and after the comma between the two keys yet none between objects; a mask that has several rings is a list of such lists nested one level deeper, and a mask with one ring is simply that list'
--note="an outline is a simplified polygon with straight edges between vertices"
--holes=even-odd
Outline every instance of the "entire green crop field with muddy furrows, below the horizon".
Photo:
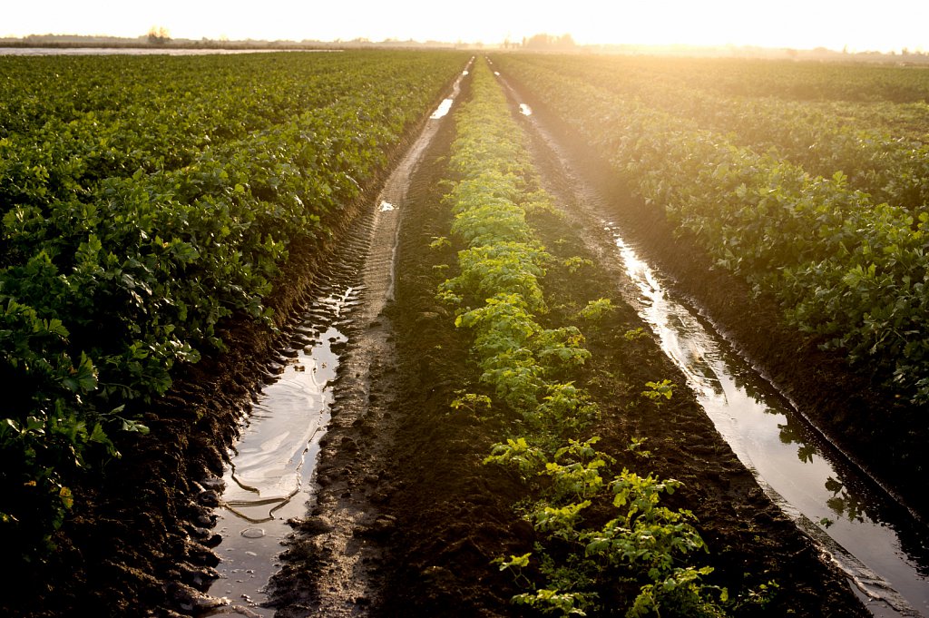
[{"label": "entire green crop field with muddy furrows, below the horizon", "polygon": [[[10,615],[929,615],[929,71],[0,57],[0,211]],[[821,513],[714,426],[614,227],[840,462]],[[326,409],[290,514],[217,524],[272,501],[235,457],[285,379]],[[883,597],[822,545],[870,519]]]}]

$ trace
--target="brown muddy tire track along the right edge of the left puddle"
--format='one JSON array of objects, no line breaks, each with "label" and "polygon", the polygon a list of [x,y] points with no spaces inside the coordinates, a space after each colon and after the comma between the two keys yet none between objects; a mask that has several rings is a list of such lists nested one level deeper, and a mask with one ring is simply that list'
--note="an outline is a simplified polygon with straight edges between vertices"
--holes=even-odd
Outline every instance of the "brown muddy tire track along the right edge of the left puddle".
[{"label": "brown muddy tire track along the right edge of the left puddle", "polygon": [[[467,71],[450,95],[459,92]],[[449,107],[443,106],[446,111]],[[347,349],[334,384],[334,403],[316,467],[317,493],[309,516],[293,519],[294,535],[270,583],[278,616],[353,616],[367,613],[384,584],[380,543],[395,527],[378,504],[391,491],[383,461],[397,427],[396,350],[384,309],[393,300],[395,258],[404,203],[417,191],[416,169],[448,122],[433,114],[410,151],[387,178],[369,216],[353,234],[346,253],[360,303],[347,326]],[[352,270],[351,268],[349,270]]]}]

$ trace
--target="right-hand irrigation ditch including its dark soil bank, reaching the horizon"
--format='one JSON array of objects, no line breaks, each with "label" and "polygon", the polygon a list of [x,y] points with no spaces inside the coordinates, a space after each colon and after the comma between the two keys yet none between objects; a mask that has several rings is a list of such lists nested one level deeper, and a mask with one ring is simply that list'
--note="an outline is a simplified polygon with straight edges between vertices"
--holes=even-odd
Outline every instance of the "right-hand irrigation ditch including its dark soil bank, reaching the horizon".
[{"label": "right-hand irrigation ditch including its dark soil bank, reaching the horizon", "polygon": [[[747,298],[747,291],[718,272],[712,275],[717,286],[681,284],[681,278],[699,277],[706,259],[684,255],[682,260],[682,254],[692,252],[687,244],[662,229],[642,204],[623,197],[615,181],[605,181],[602,162],[587,155],[582,159],[586,166],[579,168],[578,146],[564,134],[557,135],[556,119],[548,118],[546,124],[526,101],[541,109],[543,103],[524,97],[504,75],[496,74],[534,138],[546,188],[581,225],[602,230],[589,234],[588,244],[624,271],[624,297],[686,376],[700,407],[765,494],[815,541],[824,559],[846,574],[872,615],[929,615],[925,520],[804,414],[808,398],[796,400],[805,385],[775,386],[771,376],[783,375],[779,368],[746,359],[739,346],[744,329],[738,332],[738,326],[726,323],[718,307],[728,302],[751,314],[756,307],[738,299]],[[582,169],[594,173],[584,174]],[[660,272],[640,254],[673,274]],[[685,271],[679,266],[682,261],[698,266]],[[710,296],[715,299],[708,301]],[[706,309],[708,304],[717,310]],[[777,316],[766,309],[758,320],[776,323]],[[772,329],[769,347],[784,345],[777,335]],[[803,356],[793,362],[802,366]]]}]

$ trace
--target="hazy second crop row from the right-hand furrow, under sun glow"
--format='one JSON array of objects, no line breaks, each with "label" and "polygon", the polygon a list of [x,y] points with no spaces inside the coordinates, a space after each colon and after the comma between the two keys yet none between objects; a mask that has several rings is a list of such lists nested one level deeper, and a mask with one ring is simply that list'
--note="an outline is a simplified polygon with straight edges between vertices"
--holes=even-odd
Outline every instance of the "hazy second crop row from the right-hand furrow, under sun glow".
[{"label": "hazy second crop row from the right-hand furrow, under sun glow", "polygon": [[[648,63],[630,59],[575,59],[533,57],[538,66],[567,72],[623,99],[690,119],[693,127],[726,135],[753,151],[774,151],[779,158],[826,178],[842,172],[848,184],[870,194],[875,203],[889,202],[913,213],[929,204],[929,143],[926,143],[926,106],[885,104],[884,115],[874,105],[829,104],[771,97],[726,96],[692,75],[649,72]],[[687,66],[688,60],[666,62]],[[846,69],[846,71],[851,71]],[[857,108],[871,112],[849,117]],[[919,112],[910,129],[900,135],[894,124],[909,110]],[[921,122],[922,121],[922,122]],[[903,121],[901,121],[903,122]]]}]

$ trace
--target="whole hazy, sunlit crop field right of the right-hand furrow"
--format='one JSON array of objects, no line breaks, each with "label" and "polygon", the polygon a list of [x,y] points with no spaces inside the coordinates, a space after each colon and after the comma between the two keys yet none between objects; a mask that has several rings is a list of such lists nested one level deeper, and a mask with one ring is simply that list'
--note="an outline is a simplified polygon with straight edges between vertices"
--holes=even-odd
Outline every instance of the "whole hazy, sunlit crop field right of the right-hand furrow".
[{"label": "whole hazy, sunlit crop field right of the right-hand furrow", "polygon": [[719,266],[776,296],[798,328],[887,388],[929,402],[929,75],[846,68],[850,76],[830,81],[825,68],[789,81],[784,67],[767,75],[737,65],[727,81],[713,64],[504,66]]}]

